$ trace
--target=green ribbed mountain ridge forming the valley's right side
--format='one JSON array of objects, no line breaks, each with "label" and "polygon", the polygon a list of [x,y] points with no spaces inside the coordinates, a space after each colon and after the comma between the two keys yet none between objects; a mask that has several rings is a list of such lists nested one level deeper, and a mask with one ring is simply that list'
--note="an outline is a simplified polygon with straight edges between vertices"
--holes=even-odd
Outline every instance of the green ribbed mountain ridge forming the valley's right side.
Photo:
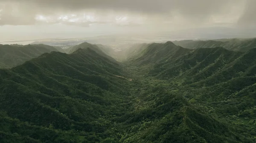
[{"label": "green ribbed mountain ridge forming the valley's right side", "polygon": [[[163,50],[162,45],[158,44],[158,51]],[[163,53],[168,52],[165,51]],[[241,135],[245,132],[255,135],[255,127],[250,125],[254,123],[256,106],[255,51],[256,48],[245,53],[221,47],[198,48],[188,50],[181,56],[168,54],[169,60],[163,54],[143,65],[146,68],[143,73],[148,78],[160,79],[172,94],[182,95],[189,103],[223,123],[233,123],[230,126],[244,129]],[[139,58],[147,59],[148,53],[143,53]],[[131,64],[134,61],[137,59]],[[244,118],[248,121],[244,121]]]}]

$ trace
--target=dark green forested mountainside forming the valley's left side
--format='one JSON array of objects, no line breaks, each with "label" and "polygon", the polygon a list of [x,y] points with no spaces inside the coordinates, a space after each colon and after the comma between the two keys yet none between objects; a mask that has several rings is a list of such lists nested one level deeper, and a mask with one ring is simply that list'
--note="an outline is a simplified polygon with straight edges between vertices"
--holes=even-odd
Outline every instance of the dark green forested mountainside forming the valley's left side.
[{"label": "dark green forested mountainside forming the valley's left side", "polygon": [[117,62],[90,48],[44,53],[0,70],[0,140],[100,141],[111,118],[129,106],[131,81],[118,77],[122,73]]}]

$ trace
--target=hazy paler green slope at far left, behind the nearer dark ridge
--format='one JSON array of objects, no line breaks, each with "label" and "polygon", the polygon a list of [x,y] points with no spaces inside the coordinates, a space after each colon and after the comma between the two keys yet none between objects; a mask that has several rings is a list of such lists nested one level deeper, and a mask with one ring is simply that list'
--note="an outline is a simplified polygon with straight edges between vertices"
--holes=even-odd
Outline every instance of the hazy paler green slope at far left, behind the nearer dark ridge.
[{"label": "hazy paler green slope at far left, behind the nearer dark ridge", "polygon": [[59,51],[48,45],[0,45],[0,68],[10,68],[23,64],[43,53]]}]

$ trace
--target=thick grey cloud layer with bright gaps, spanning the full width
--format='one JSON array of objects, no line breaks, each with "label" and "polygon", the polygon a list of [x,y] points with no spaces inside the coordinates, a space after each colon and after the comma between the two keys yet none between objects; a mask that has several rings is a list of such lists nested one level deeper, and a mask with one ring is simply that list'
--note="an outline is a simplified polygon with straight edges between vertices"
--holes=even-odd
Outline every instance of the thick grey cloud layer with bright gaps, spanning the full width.
[{"label": "thick grey cloud layer with bright gaps, spanning the full width", "polygon": [[0,25],[247,25],[256,22],[255,4],[256,0],[0,0]]}]

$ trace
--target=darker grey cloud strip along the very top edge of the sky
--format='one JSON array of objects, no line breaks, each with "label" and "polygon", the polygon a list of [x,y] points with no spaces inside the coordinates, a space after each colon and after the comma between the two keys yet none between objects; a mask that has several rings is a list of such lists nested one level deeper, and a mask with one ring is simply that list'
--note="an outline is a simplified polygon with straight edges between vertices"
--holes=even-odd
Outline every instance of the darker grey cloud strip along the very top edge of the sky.
[{"label": "darker grey cloud strip along the very top edge of the sky", "polygon": [[[232,3],[241,0],[2,0],[36,6],[39,9],[57,10],[84,10],[114,9],[128,11],[142,11],[161,13],[180,10],[183,14],[208,14],[219,11]],[[33,9],[33,8],[30,8]]]}]

